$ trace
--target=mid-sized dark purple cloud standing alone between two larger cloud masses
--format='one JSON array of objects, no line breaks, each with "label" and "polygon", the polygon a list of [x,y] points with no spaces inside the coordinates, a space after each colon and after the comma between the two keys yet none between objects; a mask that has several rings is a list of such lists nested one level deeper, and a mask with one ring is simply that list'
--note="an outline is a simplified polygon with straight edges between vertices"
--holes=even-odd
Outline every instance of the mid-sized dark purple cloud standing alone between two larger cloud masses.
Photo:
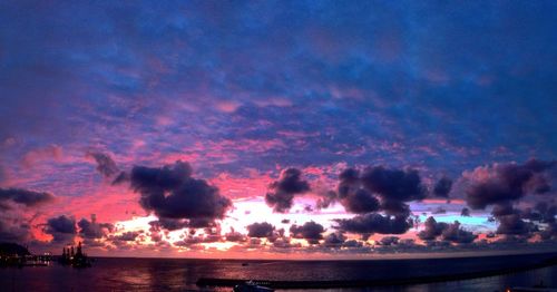
[{"label": "mid-sized dark purple cloud standing alone between two larger cloud masses", "polygon": [[302,172],[297,168],[282,171],[278,181],[271,183],[265,194],[265,202],[275,212],[284,213],[292,207],[294,195],[310,191],[310,184],[302,179]]}]

